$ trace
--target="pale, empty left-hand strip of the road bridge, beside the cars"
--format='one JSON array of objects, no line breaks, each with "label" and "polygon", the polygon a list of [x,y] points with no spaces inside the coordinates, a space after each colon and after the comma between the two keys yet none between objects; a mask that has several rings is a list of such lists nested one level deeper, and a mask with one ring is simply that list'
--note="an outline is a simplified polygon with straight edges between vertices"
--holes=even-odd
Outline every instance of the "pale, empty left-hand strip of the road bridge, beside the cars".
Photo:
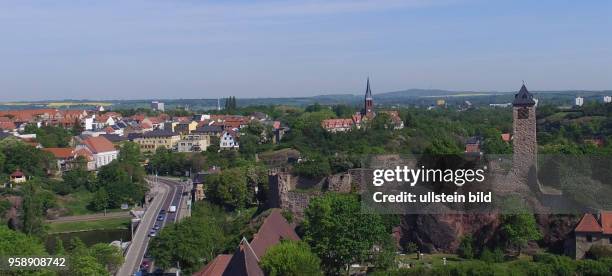
[{"label": "pale, empty left-hand strip of the road bridge, beside the cars", "polygon": [[153,183],[151,192],[155,194],[155,197],[147,208],[138,228],[134,231],[134,237],[125,254],[125,262],[119,268],[116,275],[133,275],[139,269],[149,244],[149,230],[156,223],[157,214],[162,207],[162,203],[167,201],[170,197],[169,195],[174,193],[174,190],[172,186],[167,184],[161,182]]}]

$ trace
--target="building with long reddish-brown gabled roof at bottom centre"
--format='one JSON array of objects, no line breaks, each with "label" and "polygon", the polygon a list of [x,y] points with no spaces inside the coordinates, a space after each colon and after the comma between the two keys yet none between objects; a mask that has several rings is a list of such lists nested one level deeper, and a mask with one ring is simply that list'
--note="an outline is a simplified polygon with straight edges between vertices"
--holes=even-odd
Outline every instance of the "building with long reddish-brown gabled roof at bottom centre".
[{"label": "building with long reddish-brown gabled roof at bottom centre", "polygon": [[294,226],[283,217],[280,209],[272,209],[250,242],[243,238],[234,254],[218,255],[193,275],[263,276],[264,272],[259,266],[260,260],[270,247],[282,240],[299,241],[300,237],[295,233]]}]

